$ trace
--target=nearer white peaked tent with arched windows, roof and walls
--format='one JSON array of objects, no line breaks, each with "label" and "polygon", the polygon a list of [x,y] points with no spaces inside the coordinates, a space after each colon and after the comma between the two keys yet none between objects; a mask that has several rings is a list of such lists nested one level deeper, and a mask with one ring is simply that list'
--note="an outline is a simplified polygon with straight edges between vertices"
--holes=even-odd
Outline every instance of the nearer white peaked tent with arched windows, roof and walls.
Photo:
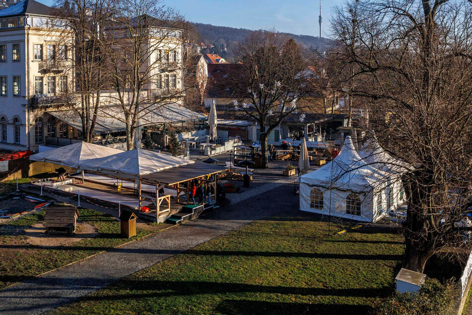
[{"label": "nearer white peaked tent with arched windows, roof and walls", "polygon": [[300,210],[375,222],[387,212],[389,175],[369,166],[346,137],[339,155],[300,176]]}]

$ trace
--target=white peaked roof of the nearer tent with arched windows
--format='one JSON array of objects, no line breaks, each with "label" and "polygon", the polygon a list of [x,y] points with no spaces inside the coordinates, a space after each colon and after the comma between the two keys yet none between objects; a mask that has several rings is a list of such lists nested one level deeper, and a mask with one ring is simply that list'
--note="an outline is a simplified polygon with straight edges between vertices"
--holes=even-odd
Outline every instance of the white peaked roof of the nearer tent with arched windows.
[{"label": "white peaked roof of the nearer tent with arched windows", "polygon": [[310,186],[366,192],[387,181],[386,174],[371,167],[357,154],[350,137],[346,137],[339,155],[321,168],[300,176]]}]

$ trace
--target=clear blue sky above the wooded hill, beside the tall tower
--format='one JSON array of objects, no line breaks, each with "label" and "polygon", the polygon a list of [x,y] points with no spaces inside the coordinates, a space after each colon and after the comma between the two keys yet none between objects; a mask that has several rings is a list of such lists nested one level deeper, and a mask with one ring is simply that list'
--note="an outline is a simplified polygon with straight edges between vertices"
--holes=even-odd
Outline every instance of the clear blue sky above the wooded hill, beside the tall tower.
[{"label": "clear blue sky above the wooded hill, beside the tall tower", "polygon": [[[164,0],[189,21],[248,29],[318,36],[319,0]],[[329,32],[333,6],[344,0],[322,1],[323,36]],[[326,32],[325,32],[326,30]]]}]

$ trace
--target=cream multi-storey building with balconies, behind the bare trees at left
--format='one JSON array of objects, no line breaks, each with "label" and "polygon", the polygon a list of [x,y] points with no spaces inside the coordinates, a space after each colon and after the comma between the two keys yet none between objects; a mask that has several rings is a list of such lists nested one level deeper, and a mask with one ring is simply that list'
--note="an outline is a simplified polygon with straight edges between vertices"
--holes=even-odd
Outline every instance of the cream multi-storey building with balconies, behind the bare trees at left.
[{"label": "cream multi-storey building with balconies, behind the bare trees at left", "polygon": [[[72,42],[66,21],[55,17],[53,8],[36,0],[2,4],[0,151],[38,151],[42,145],[73,142],[81,130],[80,119],[77,111],[67,110],[71,105],[66,105],[62,96],[68,95],[68,99],[77,102],[80,94],[74,91],[74,53],[65,44]],[[155,32],[148,41],[147,65],[143,65],[151,67],[151,79],[142,93],[150,98],[176,95],[174,105],[178,106],[182,94],[178,91],[183,90],[182,34],[165,28],[156,28]],[[163,35],[168,38],[163,40]],[[113,105],[107,99],[114,99],[114,93],[101,91],[103,105]],[[96,130],[97,136],[117,133],[124,130],[124,123],[100,117]]]}]

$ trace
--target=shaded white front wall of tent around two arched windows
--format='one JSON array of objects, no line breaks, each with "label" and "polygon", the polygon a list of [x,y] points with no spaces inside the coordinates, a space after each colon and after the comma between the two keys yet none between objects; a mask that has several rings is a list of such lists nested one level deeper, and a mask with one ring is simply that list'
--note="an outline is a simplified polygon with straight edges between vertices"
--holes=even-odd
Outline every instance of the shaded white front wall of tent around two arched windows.
[{"label": "shaded white front wall of tent around two arched windows", "polygon": [[[310,207],[310,193],[313,188],[323,191],[323,209],[314,209]],[[346,213],[346,197],[351,191],[342,191],[338,189],[326,189],[319,186],[309,186],[305,183],[300,183],[300,210],[306,212],[319,213],[323,215],[331,215],[343,219],[356,220],[362,222],[372,222],[373,219],[373,204],[372,192],[357,194],[361,199],[361,215],[351,215]],[[330,211],[331,208],[331,211]]]}]

